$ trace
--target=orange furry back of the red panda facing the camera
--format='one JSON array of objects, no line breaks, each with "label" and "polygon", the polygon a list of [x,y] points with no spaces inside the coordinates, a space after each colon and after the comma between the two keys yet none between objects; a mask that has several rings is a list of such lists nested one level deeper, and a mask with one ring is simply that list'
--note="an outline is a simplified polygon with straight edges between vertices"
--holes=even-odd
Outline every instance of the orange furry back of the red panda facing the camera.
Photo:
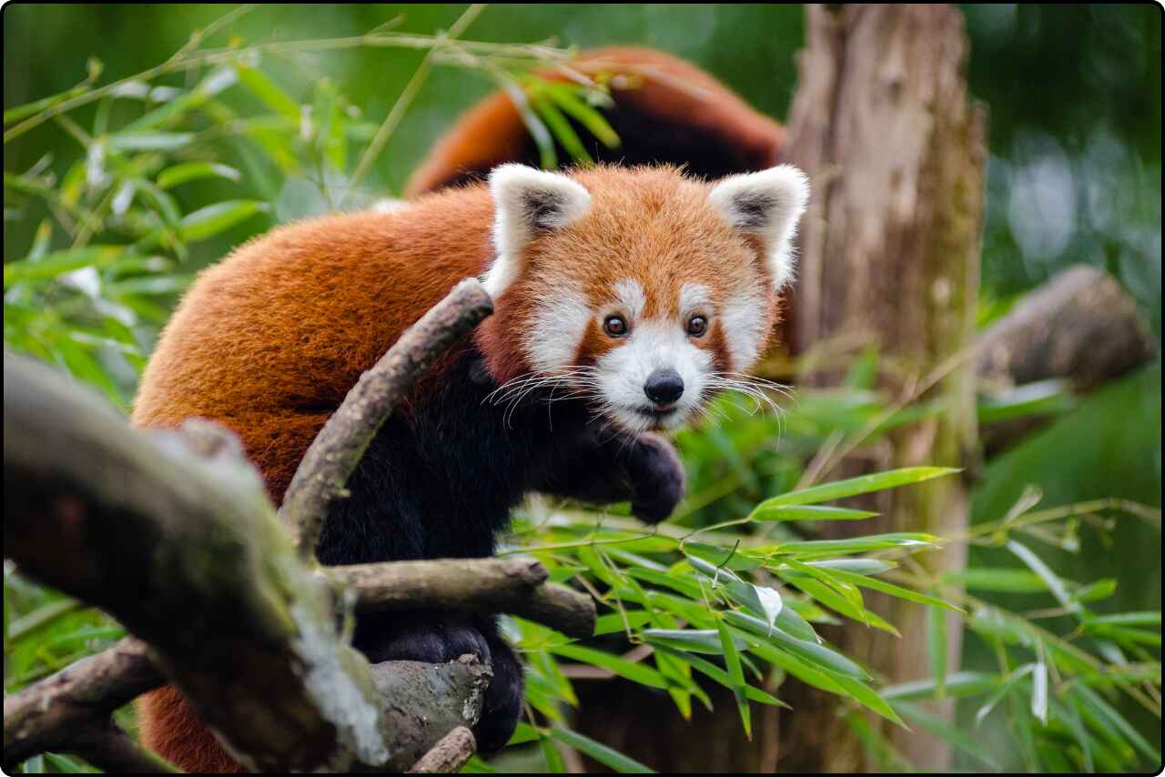
[{"label": "orange furry back of the red panda facing the camera", "polygon": [[394,213],[299,221],[205,270],[154,351],[133,423],[224,423],[282,496],[347,390],[460,278],[489,261],[483,188]]}]

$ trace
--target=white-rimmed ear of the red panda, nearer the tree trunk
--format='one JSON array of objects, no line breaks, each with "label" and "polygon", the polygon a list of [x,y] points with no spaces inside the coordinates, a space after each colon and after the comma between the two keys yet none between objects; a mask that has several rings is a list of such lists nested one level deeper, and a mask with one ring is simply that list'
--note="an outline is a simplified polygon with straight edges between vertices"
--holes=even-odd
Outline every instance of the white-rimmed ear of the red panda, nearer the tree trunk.
[{"label": "white-rimmed ear of the red panda, nearer the tree trunk", "polygon": [[741,232],[761,235],[772,287],[793,277],[792,239],[809,203],[809,177],[791,164],[730,176],[718,183],[708,200]]}]

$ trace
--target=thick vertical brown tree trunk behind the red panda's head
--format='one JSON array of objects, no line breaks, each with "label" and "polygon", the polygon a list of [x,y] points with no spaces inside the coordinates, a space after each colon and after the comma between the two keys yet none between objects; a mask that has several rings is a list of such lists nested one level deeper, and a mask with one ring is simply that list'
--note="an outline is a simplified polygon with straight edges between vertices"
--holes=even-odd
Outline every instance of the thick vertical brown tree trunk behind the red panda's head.
[{"label": "thick vertical brown tree trunk behind the red panda's head", "polygon": [[[976,443],[974,360],[956,354],[967,353],[974,326],[986,116],[968,104],[962,16],[946,5],[811,6],[806,37],[788,158],[814,191],[802,229],[793,351],[828,338],[876,344],[883,363],[895,366],[881,377],[891,397],[946,370],[925,394],[941,397],[946,411],[894,435],[880,464],[967,466]],[[828,384],[836,375],[812,380]],[[847,461],[831,474],[861,471]],[[831,530],[948,535],[966,525],[967,494],[959,480],[942,479],[885,494],[875,509],[875,525]],[[919,560],[938,574],[962,564],[962,546]],[[829,636],[887,683],[927,677],[924,608],[869,600],[901,638],[852,624]],[[961,631],[953,617],[944,626],[946,665],[956,667]],[[782,694],[795,707],[782,720],[782,770],[873,768],[832,699],[793,692],[800,698]],[[870,722],[916,767],[948,764],[941,742]]]}]

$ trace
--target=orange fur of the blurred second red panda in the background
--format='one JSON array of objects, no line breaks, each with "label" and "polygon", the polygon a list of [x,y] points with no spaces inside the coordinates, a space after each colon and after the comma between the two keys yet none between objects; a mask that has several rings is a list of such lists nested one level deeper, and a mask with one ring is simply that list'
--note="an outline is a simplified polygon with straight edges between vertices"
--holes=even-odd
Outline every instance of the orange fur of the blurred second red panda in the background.
[{"label": "orange fur of the blurred second red panda in the background", "polygon": [[[612,96],[616,110],[641,116],[641,130],[645,120],[652,134],[666,134],[669,129],[706,132],[736,160],[716,175],[763,170],[781,161],[784,128],[690,62],[655,49],[610,47],[587,51],[570,66],[588,76],[626,76],[624,82],[612,84]],[[541,75],[550,80],[570,80],[562,71]],[[466,174],[485,174],[504,162],[534,164],[536,160],[523,158],[528,141],[514,103],[506,92],[495,92],[469,108],[433,146],[409,179],[405,196],[436,191]],[[613,158],[617,157],[619,149]]]}]

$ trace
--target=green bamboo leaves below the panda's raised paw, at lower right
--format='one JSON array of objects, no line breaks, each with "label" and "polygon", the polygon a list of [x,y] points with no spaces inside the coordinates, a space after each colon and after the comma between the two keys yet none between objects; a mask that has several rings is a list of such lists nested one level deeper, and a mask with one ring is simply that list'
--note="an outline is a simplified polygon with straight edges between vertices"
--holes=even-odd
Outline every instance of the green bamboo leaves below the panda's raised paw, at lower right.
[{"label": "green bamboo leaves below the panda's raised paw, at lower right", "polygon": [[[829,394],[834,400],[839,397],[836,391]],[[779,448],[772,447],[779,437],[778,425],[809,429],[804,419],[790,416],[805,412],[806,404],[818,405],[813,393],[805,390],[798,405],[781,419],[750,415],[742,398],[722,397],[722,412],[715,414],[715,423],[706,422],[680,435],[693,488],[678,518],[648,529],[614,510],[593,513],[538,504],[518,516],[511,543],[502,552],[531,553],[552,570],[555,579],[574,579],[596,593],[606,608],[596,630],[605,638],[596,644],[607,647],[580,647],[543,627],[510,619],[515,621],[520,650],[527,655],[549,650],[562,659],[665,688],[684,716],[691,715],[693,695],[699,700],[693,691],[699,685],[693,686],[693,678],[718,683],[733,691],[746,730],[753,704],[782,704],[779,686],[757,685],[775,672],[776,677],[791,676],[838,694],[854,711],[867,709],[944,739],[977,769],[1003,769],[1010,750],[984,753],[973,732],[945,722],[917,701],[956,698],[974,704],[976,725],[988,725],[984,721],[991,714],[1005,713],[1011,718],[1009,725],[1025,733],[1017,746],[1026,749],[1026,756],[1021,753],[1021,757],[1026,757],[1026,764],[1035,770],[1054,769],[1059,762],[1052,760],[1053,753],[1081,771],[1129,770],[1155,762],[1157,747],[1122,716],[1117,704],[1125,699],[1159,712],[1153,690],[1159,688],[1160,679],[1159,610],[1097,614],[1092,602],[1113,594],[1111,581],[1081,584],[1065,579],[1025,543],[1031,537],[1064,532],[1073,521],[1083,520],[1101,529],[1108,521],[1102,516],[1159,521],[1158,510],[1121,500],[1036,510],[1039,494],[1028,490],[1014,509],[994,522],[975,525],[963,537],[940,541],[901,532],[845,541],[812,539],[822,521],[870,517],[868,513],[855,515],[818,502],[917,487],[915,483],[935,476],[951,476],[952,471],[915,467],[791,490],[778,485],[774,490],[779,493],[774,494],[767,490],[765,471],[785,473],[804,466],[803,460],[784,452],[799,447],[793,432],[781,438]],[[835,432],[828,418],[828,414],[817,418],[820,428],[813,431],[826,437]],[[845,414],[833,421],[842,429],[855,426]],[[765,432],[750,430],[754,424],[765,426]],[[693,453],[705,446],[722,450],[723,443],[718,444],[716,436],[730,436],[736,459]],[[746,439],[763,444],[750,447],[743,444]],[[699,474],[702,468],[708,469],[704,476]],[[739,478],[726,490],[722,481],[729,473]],[[749,489],[749,482],[757,492]],[[788,482],[788,478],[777,482]],[[736,509],[726,503],[735,504],[737,499],[744,502],[737,513],[743,515],[725,520]],[[797,506],[799,510],[811,506],[819,511],[784,516],[775,513],[784,506]],[[791,523],[775,520],[781,517]],[[805,532],[809,538],[803,538]],[[1009,549],[1026,568],[980,566],[930,581],[915,571],[920,567],[911,558],[940,542]],[[894,631],[894,624],[868,609],[863,589],[916,602],[935,614],[954,613],[970,634],[994,645],[1000,661],[997,671],[946,667],[945,621],[933,617],[932,622],[941,628],[931,629],[932,640],[941,642],[931,650],[932,677],[878,688],[864,667],[822,642],[814,628],[817,623],[852,621],[852,628],[863,624]],[[984,598],[993,592],[1016,591],[1047,596],[1055,612],[1015,612]],[[1060,612],[1069,614],[1074,624],[1061,633],[1042,624]],[[612,643],[612,635],[620,634],[623,640]],[[636,645],[652,650],[644,652]],[[1113,648],[1123,652],[1118,656]],[[546,716],[545,728],[539,730],[552,735],[566,720],[562,705],[577,702],[569,700],[574,698],[573,692],[559,693],[555,707],[555,694],[549,690],[569,686],[569,680],[557,664],[552,674],[546,670],[544,663],[531,661],[528,672],[531,687],[548,690],[534,708]],[[866,716],[850,714],[847,720],[876,762],[895,770],[909,763],[870,727]],[[1071,741],[1067,748],[1062,747],[1065,739]],[[1104,753],[1103,764],[1096,753]]]}]

